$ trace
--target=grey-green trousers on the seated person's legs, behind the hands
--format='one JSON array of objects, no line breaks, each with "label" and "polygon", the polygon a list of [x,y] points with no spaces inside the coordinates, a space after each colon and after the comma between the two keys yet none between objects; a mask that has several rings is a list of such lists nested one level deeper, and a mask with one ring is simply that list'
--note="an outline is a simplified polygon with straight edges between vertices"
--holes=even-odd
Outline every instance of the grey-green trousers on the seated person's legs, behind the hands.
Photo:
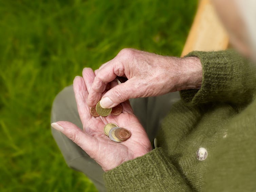
[{"label": "grey-green trousers on the seated person's legs, behind the hands", "polygon": [[[153,141],[163,117],[166,116],[171,105],[180,99],[179,93],[168,93],[158,97],[130,99],[134,114],[145,128],[150,141]],[[55,98],[52,105],[51,122],[70,121],[83,129],[80,121],[73,86],[63,89]],[[102,168],[88,156],[72,140],[61,132],[52,128],[52,135],[64,157],[67,165],[83,172],[92,180],[98,191],[106,191]]]}]

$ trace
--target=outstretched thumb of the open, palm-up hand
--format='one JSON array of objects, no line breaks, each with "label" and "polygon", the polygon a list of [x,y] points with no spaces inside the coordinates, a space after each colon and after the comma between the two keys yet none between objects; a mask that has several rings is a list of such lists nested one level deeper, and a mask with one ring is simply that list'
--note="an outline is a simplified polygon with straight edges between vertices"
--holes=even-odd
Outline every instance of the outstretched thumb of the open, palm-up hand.
[{"label": "outstretched thumb of the open, palm-up hand", "polygon": [[52,123],[51,126],[66,135],[90,156],[93,154],[93,149],[97,147],[97,143],[92,136],[84,133],[69,121],[57,121]]}]

